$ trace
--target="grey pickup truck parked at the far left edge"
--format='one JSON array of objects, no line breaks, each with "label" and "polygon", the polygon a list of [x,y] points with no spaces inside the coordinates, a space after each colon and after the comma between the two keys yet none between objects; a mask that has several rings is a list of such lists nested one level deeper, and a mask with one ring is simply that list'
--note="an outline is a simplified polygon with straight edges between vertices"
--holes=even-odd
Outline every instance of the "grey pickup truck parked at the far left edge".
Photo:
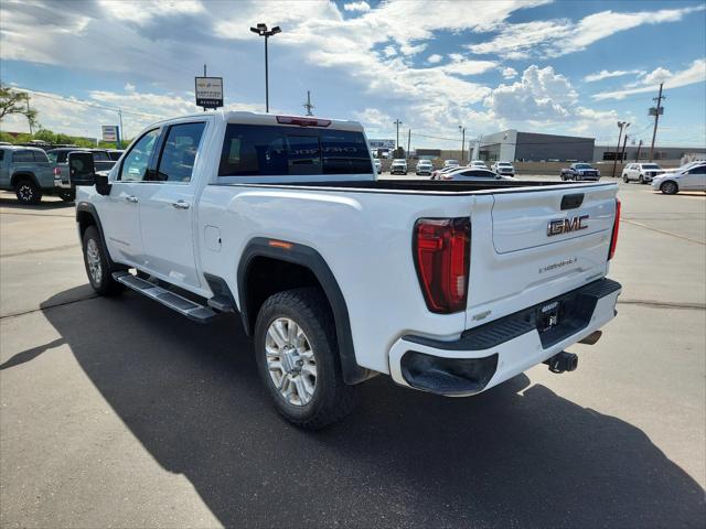
[{"label": "grey pickup truck parked at the far left edge", "polygon": [[[57,193],[52,164],[38,147],[0,145],[0,190],[14,191],[22,204],[39,204]],[[63,195],[60,196],[66,199]]]}]

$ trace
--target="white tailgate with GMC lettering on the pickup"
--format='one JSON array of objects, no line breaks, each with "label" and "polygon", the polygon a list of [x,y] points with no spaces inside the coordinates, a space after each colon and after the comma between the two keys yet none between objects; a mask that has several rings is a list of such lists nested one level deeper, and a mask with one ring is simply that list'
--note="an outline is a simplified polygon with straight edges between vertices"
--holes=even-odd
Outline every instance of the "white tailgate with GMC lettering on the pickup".
[{"label": "white tailgate with GMC lettering on the pickup", "polygon": [[472,215],[467,327],[601,278],[614,184],[493,193]]}]

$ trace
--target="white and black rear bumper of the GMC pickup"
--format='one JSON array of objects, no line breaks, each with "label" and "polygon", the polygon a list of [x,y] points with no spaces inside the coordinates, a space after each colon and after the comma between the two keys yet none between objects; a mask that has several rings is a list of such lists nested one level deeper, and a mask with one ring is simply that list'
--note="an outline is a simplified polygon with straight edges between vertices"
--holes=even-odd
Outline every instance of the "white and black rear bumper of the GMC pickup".
[{"label": "white and black rear bumper of the GMC pickup", "polygon": [[[584,339],[616,315],[620,283],[601,279],[447,342],[406,335],[389,350],[395,382],[450,397],[496,386]],[[559,323],[546,326],[543,309],[558,302]]]}]

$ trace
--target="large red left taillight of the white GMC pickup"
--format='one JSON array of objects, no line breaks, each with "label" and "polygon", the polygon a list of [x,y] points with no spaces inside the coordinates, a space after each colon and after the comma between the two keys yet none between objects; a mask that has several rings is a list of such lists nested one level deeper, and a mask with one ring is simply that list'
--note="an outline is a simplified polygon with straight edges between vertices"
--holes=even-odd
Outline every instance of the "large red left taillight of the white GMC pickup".
[{"label": "large red left taillight of the white GMC pickup", "polygon": [[415,266],[431,312],[449,314],[466,309],[470,241],[469,218],[420,218],[415,224]]}]

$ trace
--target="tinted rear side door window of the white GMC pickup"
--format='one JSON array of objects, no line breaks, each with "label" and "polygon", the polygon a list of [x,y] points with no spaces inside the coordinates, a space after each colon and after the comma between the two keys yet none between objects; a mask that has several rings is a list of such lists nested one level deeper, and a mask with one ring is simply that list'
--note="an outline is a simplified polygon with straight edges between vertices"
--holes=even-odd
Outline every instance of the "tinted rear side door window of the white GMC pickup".
[{"label": "tinted rear side door window of the white GMC pickup", "polygon": [[169,128],[157,169],[157,180],[189,182],[194,169],[196,150],[205,123],[182,123]]}]

